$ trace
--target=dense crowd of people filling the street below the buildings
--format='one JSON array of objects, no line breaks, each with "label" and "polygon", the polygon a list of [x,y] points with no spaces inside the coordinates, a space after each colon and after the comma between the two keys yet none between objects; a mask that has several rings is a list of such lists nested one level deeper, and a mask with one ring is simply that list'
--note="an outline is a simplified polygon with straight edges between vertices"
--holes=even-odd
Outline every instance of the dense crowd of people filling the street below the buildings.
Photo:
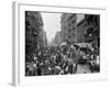
[{"label": "dense crowd of people filling the street below the buildings", "polygon": [[46,46],[25,55],[25,76],[77,74],[79,64],[100,70],[99,55],[77,45]]}]

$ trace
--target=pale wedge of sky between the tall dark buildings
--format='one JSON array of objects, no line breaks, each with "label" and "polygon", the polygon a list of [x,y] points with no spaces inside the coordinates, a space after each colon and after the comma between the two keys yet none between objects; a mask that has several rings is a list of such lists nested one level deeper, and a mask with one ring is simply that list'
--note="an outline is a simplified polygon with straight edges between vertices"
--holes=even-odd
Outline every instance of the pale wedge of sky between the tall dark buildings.
[{"label": "pale wedge of sky between the tall dark buildings", "polygon": [[48,43],[55,37],[57,31],[61,31],[61,15],[62,13],[41,12],[44,23],[44,31]]}]

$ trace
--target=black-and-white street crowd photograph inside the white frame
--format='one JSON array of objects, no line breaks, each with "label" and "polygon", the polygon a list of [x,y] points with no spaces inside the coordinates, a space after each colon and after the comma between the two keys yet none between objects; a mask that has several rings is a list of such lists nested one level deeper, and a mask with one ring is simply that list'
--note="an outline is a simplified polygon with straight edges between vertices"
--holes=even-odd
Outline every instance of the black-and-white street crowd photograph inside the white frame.
[{"label": "black-and-white street crowd photograph inside the white frame", "polygon": [[25,76],[100,73],[100,14],[25,11]]}]

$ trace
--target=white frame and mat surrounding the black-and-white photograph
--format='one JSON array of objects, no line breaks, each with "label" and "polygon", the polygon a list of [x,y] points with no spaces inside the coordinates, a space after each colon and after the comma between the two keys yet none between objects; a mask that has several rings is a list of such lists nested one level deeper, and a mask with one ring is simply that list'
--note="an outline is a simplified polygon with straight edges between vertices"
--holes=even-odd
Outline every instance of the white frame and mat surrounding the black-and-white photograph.
[{"label": "white frame and mat surrounding the black-and-white photograph", "polygon": [[[100,80],[106,79],[106,58],[105,48],[101,46],[105,37],[103,33],[106,29],[106,9],[95,8],[78,8],[78,7],[62,7],[62,6],[43,6],[43,4],[30,4],[30,3],[13,3],[13,85],[43,85],[43,84],[59,84],[59,82],[73,82],[79,80]],[[51,12],[68,12],[68,13],[87,13],[87,14],[100,14],[100,73],[98,74],[75,74],[75,75],[59,75],[59,76],[33,76],[25,77],[24,72],[24,40],[25,40],[25,15],[24,11],[51,11]],[[101,59],[102,58],[102,59]]]}]

